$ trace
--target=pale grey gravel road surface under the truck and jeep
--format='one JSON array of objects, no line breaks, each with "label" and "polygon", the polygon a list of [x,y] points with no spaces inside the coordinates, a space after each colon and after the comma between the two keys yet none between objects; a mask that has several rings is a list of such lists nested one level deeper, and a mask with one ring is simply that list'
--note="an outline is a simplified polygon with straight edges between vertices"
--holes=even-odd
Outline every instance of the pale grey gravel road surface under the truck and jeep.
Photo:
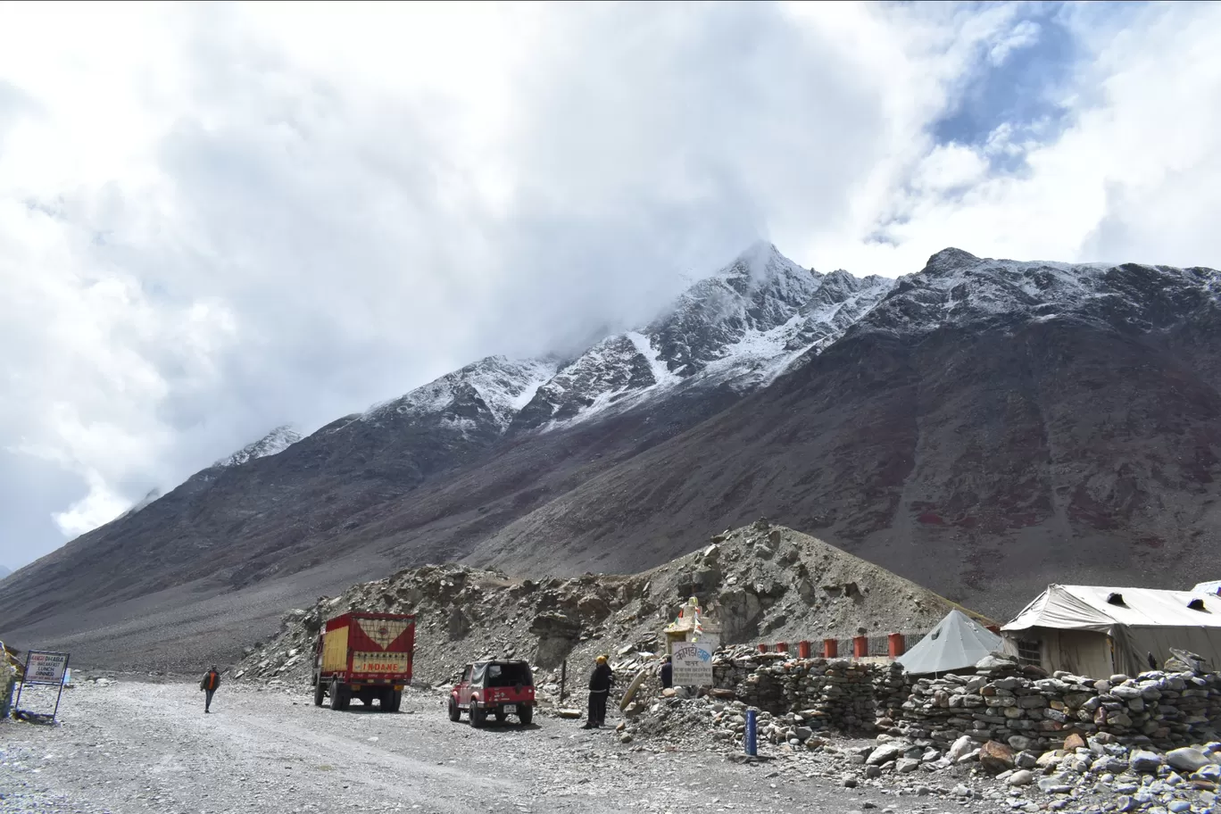
[{"label": "pale grey gravel road surface under the truck and jeep", "polygon": [[[0,721],[0,812],[939,812],[708,751],[623,744],[579,721],[473,730],[443,696],[336,713],[304,693],[121,680],[65,693],[57,726]],[[614,720],[609,721],[613,727]],[[795,776],[786,776],[794,774]]]}]

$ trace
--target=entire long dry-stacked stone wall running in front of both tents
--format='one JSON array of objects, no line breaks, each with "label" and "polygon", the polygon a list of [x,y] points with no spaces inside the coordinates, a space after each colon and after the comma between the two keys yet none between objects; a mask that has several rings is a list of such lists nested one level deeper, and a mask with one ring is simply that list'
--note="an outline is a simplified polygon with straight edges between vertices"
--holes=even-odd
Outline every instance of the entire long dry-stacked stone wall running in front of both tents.
[{"label": "entire long dry-stacked stone wall running in front of both tents", "polygon": [[1221,674],[1189,668],[1095,680],[989,657],[974,675],[912,681],[897,664],[739,649],[717,655],[713,676],[718,694],[797,713],[814,730],[882,731],[939,748],[969,736],[1040,752],[1071,733],[1106,732],[1168,749],[1216,740],[1221,729]]}]

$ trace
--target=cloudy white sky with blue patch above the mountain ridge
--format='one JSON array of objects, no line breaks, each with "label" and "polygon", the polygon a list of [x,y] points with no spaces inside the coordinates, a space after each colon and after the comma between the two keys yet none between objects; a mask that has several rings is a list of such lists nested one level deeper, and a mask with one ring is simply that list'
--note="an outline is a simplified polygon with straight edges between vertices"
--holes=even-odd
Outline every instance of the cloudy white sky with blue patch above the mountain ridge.
[{"label": "cloudy white sky with blue patch above the mountain ridge", "polygon": [[294,422],[822,271],[1221,266],[1221,4],[0,5],[0,565]]}]

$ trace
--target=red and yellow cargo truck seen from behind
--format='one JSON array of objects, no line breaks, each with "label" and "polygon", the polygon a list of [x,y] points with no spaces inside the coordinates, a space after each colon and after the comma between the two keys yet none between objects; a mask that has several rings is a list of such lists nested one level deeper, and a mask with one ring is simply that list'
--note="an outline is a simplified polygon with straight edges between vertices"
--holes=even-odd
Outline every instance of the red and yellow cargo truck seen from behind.
[{"label": "red and yellow cargo truck seen from behind", "polygon": [[374,699],[383,713],[397,713],[403,687],[411,682],[415,616],[354,610],[331,619],[314,643],[314,704],[331,697],[331,709],[353,698]]}]

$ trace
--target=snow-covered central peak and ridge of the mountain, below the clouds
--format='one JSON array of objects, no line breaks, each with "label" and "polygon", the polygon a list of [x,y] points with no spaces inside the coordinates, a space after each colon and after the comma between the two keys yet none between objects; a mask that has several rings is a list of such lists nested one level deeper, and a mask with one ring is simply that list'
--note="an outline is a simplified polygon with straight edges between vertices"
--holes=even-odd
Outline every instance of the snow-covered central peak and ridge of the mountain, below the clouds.
[{"label": "snow-covered central peak and ridge of the mountain, below the clouds", "polygon": [[659,317],[567,364],[488,356],[327,427],[433,426],[468,437],[549,430],[636,406],[679,387],[748,392],[842,334],[894,286],[822,275],[757,243],[696,282]]}]

